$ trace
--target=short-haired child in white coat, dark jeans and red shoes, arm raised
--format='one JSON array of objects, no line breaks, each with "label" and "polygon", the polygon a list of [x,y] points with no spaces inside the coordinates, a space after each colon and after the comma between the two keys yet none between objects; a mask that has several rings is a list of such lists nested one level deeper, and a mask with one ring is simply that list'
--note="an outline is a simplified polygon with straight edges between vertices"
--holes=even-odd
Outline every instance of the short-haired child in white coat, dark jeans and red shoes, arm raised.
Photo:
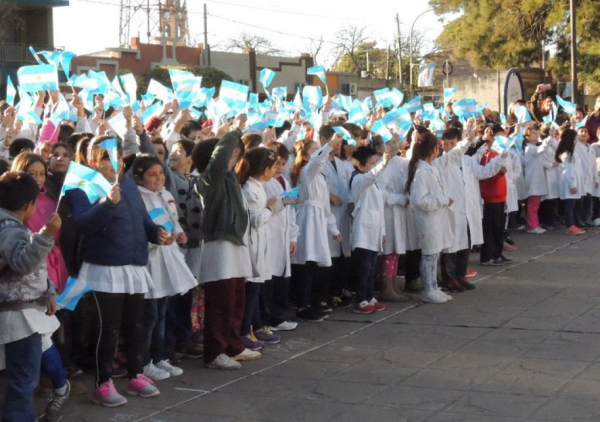
[{"label": "short-haired child in white coat, dark jeans and red shoes, arm raised", "polygon": [[390,162],[389,153],[377,164],[379,155],[370,147],[358,147],[352,154],[354,173],[350,178],[352,211],[352,277],[356,288],[357,314],[383,311],[386,306],[373,297],[377,259],[383,252],[385,238],[384,205],[381,190],[376,185]]}]

